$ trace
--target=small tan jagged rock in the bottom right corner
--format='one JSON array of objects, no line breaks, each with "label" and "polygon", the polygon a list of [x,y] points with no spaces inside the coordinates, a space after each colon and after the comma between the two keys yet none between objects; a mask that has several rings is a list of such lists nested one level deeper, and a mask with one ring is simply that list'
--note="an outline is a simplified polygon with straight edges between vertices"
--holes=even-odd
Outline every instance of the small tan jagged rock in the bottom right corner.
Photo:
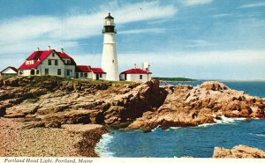
[{"label": "small tan jagged rock in the bottom right corner", "polygon": [[265,158],[265,152],[246,145],[234,146],[231,150],[215,147],[213,158]]}]

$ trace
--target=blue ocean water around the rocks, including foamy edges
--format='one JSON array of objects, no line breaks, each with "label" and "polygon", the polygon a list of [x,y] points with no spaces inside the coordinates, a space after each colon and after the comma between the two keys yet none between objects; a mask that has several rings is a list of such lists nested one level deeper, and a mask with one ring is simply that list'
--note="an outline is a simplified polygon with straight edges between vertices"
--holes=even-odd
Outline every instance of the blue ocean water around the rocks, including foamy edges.
[{"label": "blue ocean water around the rocks, including foamy edges", "polygon": [[[171,85],[200,85],[201,82],[173,82]],[[223,82],[231,89],[265,98],[265,82]],[[216,124],[198,127],[159,128],[150,133],[141,130],[110,130],[96,145],[100,157],[155,157],[191,156],[210,158],[215,146],[232,148],[246,144],[265,150],[265,120],[226,118]]]}]

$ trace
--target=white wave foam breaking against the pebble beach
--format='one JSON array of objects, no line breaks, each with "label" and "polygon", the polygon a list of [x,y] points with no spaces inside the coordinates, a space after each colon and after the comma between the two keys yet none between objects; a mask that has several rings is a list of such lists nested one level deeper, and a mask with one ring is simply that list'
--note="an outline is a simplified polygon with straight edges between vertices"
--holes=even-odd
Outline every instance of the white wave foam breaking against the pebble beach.
[{"label": "white wave foam breaking against the pebble beach", "polygon": [[113,139],[113,136],[111,136],[110,133],[103,134],[101,140],[96,144],[95,152],[101,158],[112,158],[112,157],[114,157],[114,153],[110,152],[110,149],[108,147],[108,144],[111,143],[112,139]]}]

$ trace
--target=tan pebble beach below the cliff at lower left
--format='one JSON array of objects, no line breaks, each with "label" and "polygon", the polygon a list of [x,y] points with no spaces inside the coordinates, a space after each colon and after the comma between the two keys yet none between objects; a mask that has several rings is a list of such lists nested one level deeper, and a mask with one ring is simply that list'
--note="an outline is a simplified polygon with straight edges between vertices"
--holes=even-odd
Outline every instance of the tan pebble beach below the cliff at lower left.
[{"label": "tan pebble beach below the cliff at lower left", "polygon": [[95,144],[106,132],[97,124],[27,129],[18,120],[0,117],[0,157],[98,157]]}]

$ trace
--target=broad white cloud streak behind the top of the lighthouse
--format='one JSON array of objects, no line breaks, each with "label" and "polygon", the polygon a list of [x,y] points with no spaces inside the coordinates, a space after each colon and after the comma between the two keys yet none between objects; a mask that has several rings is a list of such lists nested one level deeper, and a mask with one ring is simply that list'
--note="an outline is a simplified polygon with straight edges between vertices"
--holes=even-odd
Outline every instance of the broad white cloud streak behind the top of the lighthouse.
[{"label": "broad white cloud streak behind the top of the lighthouse", "polygon": [[[79,39],[102,34],[103,20],[110,8],[111,15],[119,26],[137,21],[153,21],[169,19],[177,13],[171,4],[161,5],[159,2],[137,4],[103,4],[97,11],[82,14],[56,16],[28,16],[5,19],[0,23],[0,56],[14,52],[28,53],[36,47],[66,46],[79,48]],[[95,9],[93,9],[95,10]],[[148,29],[163,31],[163,29]],[[125,32],[126,33],[126,32]],[[140,33],[140,31],[127,31]]]}]

